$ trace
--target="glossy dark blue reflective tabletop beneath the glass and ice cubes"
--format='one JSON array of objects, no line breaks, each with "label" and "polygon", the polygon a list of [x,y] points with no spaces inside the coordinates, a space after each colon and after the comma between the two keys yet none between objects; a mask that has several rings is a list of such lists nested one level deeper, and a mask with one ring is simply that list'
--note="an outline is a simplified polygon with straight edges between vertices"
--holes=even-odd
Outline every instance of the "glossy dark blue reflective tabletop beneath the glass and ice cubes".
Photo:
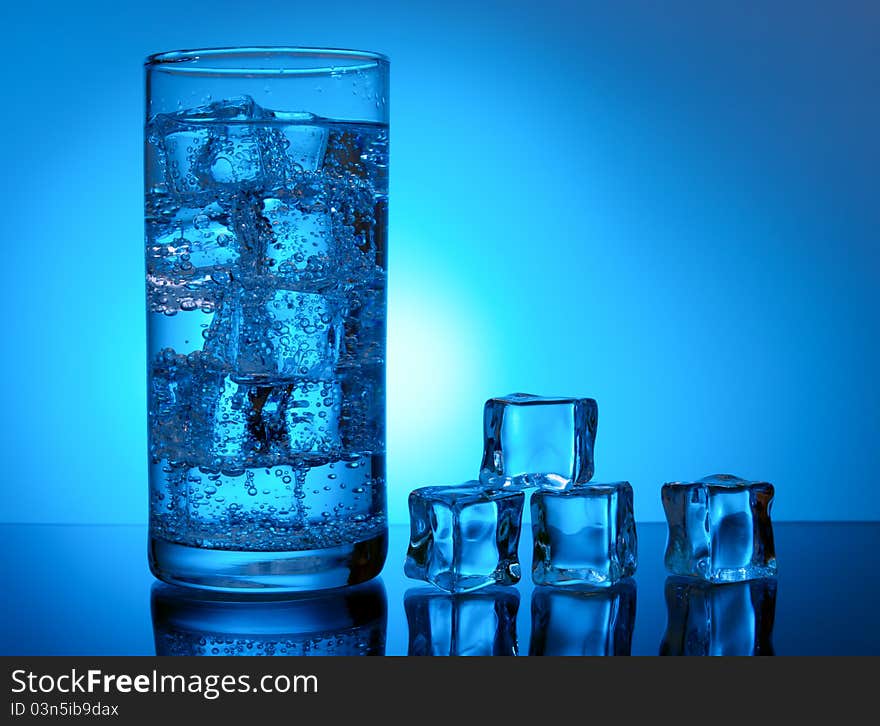
[{"label": "glossy dark blue reflective tabletop beneath the glass and ice cubes", "polygon": [[[489,605],[464,611],[439,590],[403,576],[408,532],[401,526],[391,528],[381,579],[367,587],[245,604],[156,585],[146,567],[145,527],[2,525],[0,534],[7,546],[4,654],[152,655],[157,645],[160,652],[202,652],[210,644],[205,654],[214,655],[216,647],[215,655],[222,655],[224,649],[246,653],[250,643],[251,652],[268,647],[369,655],[382,652],[383,639],[387,655],[406,655],[430,642],[438,652],[510,652],[515,646],[519,655],[622,653],[627,645],[632,655],[657,655],[661,649],[880,654],[880,576],[874,564],[880,523],[777,523],[775,599],[765,585],[716,594],[669,578],[663,524],[638,526],[639,567],[623,596],[560,596],[531,584],[525,528],[523,581],[502,588],[500,599],[493,600],[491,592],[472,598],[477,603],[489,598]],[[427,603],[440,603],[431,606],[440,627],[429,638],[422,617]],[[713,632],[714,640],[707,639]]]}]

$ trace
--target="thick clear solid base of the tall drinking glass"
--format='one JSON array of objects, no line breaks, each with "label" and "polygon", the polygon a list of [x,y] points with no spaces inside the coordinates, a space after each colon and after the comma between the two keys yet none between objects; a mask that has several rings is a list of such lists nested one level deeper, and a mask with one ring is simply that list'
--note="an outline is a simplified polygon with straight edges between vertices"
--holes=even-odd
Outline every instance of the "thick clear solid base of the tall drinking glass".
[{"label": "thick clear solid base of the tall drinking glass", "polygon": [[220,592],[301,592],[357,585],[385,564],[388,532],[320,550],[211,550],[150,537],[150,570],[164,582]]}]

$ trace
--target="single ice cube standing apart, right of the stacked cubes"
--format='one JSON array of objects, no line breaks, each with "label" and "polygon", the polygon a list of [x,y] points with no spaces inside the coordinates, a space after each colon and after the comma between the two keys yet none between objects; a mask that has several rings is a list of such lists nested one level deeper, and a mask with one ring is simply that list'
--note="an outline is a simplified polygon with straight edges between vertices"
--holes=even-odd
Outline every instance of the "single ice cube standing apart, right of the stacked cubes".
[{"label": "single ice cube standing apart, right of the stacked cubes", "polygon": [[772,484],[732,474],[664,484],[666,569],[710,582],[775,575],[773,494]]}]

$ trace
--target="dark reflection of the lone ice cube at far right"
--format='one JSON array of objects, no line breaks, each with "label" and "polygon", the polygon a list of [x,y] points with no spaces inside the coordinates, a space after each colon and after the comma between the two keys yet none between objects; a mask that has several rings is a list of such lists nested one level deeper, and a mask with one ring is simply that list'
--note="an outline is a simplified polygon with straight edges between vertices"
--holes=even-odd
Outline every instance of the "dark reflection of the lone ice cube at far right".
[{"label": "dark reflection of the lone ice cube at far right", "polygon": [[660,655],[773,655],[775,579],[713,585],[669,577],[665,590]]}]

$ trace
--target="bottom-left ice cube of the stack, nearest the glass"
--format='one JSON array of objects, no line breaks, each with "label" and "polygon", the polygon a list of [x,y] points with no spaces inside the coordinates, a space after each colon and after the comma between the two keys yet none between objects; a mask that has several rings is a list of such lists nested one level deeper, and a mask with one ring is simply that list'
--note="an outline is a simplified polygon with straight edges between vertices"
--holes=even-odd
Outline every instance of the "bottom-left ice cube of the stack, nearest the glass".
[{"label": "bottom-left ice cube of the stack, nearest the glass", "polygon": [[449,592],[519,581],[523,494],[479,482],[423,487],[409,495],[405,571]]}]

